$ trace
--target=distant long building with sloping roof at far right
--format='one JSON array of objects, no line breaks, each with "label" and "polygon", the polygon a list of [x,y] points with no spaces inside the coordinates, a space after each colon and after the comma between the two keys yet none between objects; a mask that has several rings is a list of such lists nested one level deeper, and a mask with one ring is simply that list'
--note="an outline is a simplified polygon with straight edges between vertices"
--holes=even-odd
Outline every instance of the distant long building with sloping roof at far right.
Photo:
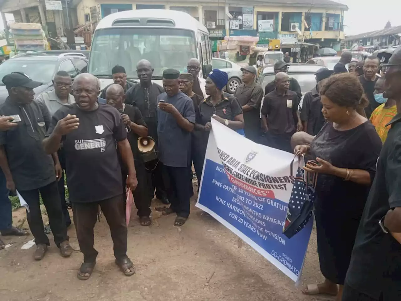
[{"label": "distant long building with sloping roof at far right", "polygon": [[344,39],[344,46],[348,49],[363,47],[374,49],[380,47],[398,46],[401,42],[401,26],[386,26],[387,28],[369,33],[348,36]]}]

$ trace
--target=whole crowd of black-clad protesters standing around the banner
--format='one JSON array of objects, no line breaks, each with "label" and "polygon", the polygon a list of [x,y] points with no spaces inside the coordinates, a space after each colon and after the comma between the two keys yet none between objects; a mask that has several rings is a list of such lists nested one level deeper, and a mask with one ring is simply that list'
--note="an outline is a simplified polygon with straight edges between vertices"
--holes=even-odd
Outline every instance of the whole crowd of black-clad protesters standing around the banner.
[{"label": "whole crowd of black-clad protesters standing around the banner", "polygon": [[[241,68],[243,83],[233,95],[224,91],[224,71],[213,69],[203,83],[197,59],[188,61],[187,73],[164,70],[163,86],[152,81],[147,60],[136,66],[138,83],[128,81],[124,66],[117,65],[114,83],[102,90],[91,74],[81,73],[72,82],[59,71],[54,91],[36,100],[33,88],[41,83],[13,72],[2,79],[9,94],[0,106],[5,116],[0,118],[2,197],[17,190],[28,204],[34,258],[41,260],[49,239],[40,193],[55,244],[62,256],[71,256],[66,173],[84,255],[78,278],[88,279],[96,264],[93,229],[99,207],[110,228],[115,262],[124,275],[133,275],[127,256],[127,189],[134,193],[142,226],[152,223],[155,195],[166,205],[156,210],[176,214],[174,226],[184,225],[194,195],[192,166],[200,183],[213,118],[254,142],[317,162],[306,164],[305,170],[318,173],[314,212],[325,281],[308,285],[305,294],[344,301],[399,299],[401,48],[393,53],[385,76],[377,74],[379,64],[370,56],[359,68],[344,51],[334,70],[316,72],[316,86],[304,96],[301,110],[302,92],[287,74],[287,61],[275,63],[275,79],[265,91],[255,83],[257,69]],[[155,142],[157,158],[140,151],[144,137]],[[2,235],[26,235],[12,227],[6,203],[0,200]]]}]

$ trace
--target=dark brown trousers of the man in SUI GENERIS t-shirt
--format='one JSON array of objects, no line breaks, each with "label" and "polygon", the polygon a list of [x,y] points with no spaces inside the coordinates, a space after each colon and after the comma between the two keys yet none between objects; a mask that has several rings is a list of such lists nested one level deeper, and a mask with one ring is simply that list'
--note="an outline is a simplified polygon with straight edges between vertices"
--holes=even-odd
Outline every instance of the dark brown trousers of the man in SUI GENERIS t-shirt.
[{"label": "dark brown trousers of the man in SUI GENERIS t-shirt", "polygon": [[83,253],[84,262],[95,262],[98,252],[93,248],[98,209],[103,212],[109,224],[113,250],[116,259],[127,257],[127,226],[125,221],[124,195],[117,195],[103,201],[92,203],[72,203],[73,220],[79,249]]}]

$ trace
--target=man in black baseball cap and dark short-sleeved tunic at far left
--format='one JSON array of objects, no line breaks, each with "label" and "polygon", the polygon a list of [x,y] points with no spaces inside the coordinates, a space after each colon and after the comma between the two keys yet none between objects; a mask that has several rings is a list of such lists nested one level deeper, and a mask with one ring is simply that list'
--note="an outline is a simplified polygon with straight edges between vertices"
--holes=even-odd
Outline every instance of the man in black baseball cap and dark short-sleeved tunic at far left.
[{"label": "man in black baseball cap and dark short-sleeved tunic at far left", "polygon": [[18,126],[0,132],[0,167],[6,176],[7,188],[17,190],[29,206],[26,216],[36,243],[34,259],[43,259],[49,246],[42,221],[39,192],[49,216],[54,241],[61,255],[69,257],[73,250],[68,243],[56,181],[62,170],[57,150],[47,155],[42,146],[51,116],[45,105],[33,101],[33,88],[42,83],[32,81],[22,72],[10,73],[2,81],[6,85],[8,98],[0,106],[0,115],[12,116],[12,122]]}]

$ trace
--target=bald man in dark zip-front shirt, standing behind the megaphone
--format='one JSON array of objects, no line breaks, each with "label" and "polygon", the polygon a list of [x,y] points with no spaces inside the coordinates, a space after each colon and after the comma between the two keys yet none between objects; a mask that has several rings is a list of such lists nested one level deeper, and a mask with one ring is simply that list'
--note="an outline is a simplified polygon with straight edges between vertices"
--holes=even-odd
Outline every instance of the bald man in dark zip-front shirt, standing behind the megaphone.
[{"label": "bald man in dark zip-front shirt, standing behind the megaphone", "polygon": [[[154,69],[150,61],[142,59],[138,62],[136,73],[138,74],[140,83],[127,91],[125,103],[135,106],[140,110],[148,126],[148,135],[156,141],[156,150],[158,150],[156,100],[164,92],[164,89],[157,83],[152,82],[153,71]],[[148,175],[150,198],[153,199],[156,194],[156,197],[162,203],[169,204],[163,181],[163,164],[158,160],[153,160],[146,162],[145,166]]]}]

